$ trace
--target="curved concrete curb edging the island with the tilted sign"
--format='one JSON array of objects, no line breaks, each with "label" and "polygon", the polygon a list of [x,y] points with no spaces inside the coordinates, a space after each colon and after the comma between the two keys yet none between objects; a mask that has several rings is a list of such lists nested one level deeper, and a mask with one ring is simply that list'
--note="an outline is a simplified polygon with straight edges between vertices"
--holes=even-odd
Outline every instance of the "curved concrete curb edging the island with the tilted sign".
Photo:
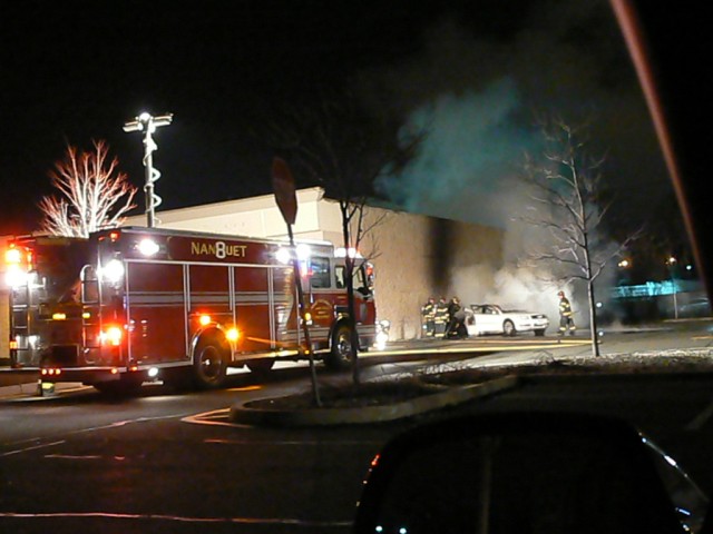
[{"label": "curved concrete curb edging the island with the tilted sign", "polygon": [[250,406],[251,400],[231,407],[229,421],[246,425],[267,426],[329,426],[384,423],[492,395],[504,389],[512,388],[517,383],[518,378],[516,376],[506,376],[482,384],[449,388],[443,393],[424,395],[401,403],[362,408],[310,408],[291,412],[254,408]]}]

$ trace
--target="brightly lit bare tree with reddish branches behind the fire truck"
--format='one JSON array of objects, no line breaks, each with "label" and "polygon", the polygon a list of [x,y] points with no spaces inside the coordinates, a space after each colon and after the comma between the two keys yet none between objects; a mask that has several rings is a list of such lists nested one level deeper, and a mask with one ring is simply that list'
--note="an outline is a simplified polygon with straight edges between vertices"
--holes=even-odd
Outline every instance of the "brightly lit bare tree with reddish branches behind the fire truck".
[{"label": "brightly lit bare tree with reddish branches behind the fire truck", "polygon": [[117,170],[118,159],[108,160],[105,141],[94,141],[92,151],[78,154],[67,147],[66,158],[49,172],[60,197],[43,197],[40,230],[56,236],[88,237],[104,228],[119,226],[125,214],[135,208],[137,188]]}]

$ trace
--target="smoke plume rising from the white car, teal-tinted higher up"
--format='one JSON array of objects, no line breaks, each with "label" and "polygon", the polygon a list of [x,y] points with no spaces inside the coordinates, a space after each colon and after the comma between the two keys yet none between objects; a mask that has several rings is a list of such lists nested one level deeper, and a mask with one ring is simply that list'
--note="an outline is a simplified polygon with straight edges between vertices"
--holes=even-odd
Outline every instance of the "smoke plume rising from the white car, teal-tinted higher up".
[{"label": "smoke plume rising from the white car, teal-tinted higher up", "polygon": [[[655,146],[655,139],[635,78],[623,69],[629,69],[628,60],[616,47],[618,30],[607,2],[540,6],[549,11],[534,12],[508,40],[478,37],[453,19],[441,21],[427,32],[420,57],[382,73],[394,101],[411,109],[406,128],[427,137],[403,172],[382,177],[377,186],[408,211],[505,230],[500,270],[472,265],[451,273],[449,293],[463,303],[540,310],[556,323],[556,294],[563,289],[585,326],[584,286],[554,287],[541,281],[554,278],[550,274],[518,267],[528,243],[539,238],[518,221],[527,199],[515,179],[524,154],[541,149],[535,115],[594,116],[602,154],[614,145],[611,159],[624,175],[627,165],[641,164],[622,157],[622,147]],[[648,172],[647,179],[655,176],[665,178],[665,171]]]}]

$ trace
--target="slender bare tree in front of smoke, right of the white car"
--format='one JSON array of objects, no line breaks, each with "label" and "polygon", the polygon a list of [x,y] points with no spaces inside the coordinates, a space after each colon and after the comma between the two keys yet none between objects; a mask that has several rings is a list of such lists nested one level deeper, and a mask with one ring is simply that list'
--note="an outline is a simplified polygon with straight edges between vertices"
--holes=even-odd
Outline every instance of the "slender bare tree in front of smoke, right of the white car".
[{"label": "slender bare tree in front of smoke, right of the white car", "polygon": [[612,202],[603,198],[605,157],[588,150],[588,125],[573,127],[557,118],[543,121],[541,129],[546,142],[541,157],[526,155],[524,179],[534,202],[522,220],[543,230],[545,239],[528,250],[524,263],[548,267],[548,281],[586,284],[592,353],[599,356],[595,280],[641,230],[618,244],[604,237],[600,225]]}]

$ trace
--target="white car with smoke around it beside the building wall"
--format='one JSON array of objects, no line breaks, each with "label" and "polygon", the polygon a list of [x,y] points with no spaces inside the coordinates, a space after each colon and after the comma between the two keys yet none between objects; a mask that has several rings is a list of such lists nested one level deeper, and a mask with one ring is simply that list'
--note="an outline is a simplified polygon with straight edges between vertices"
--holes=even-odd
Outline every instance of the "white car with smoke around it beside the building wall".
[{"label": "white car with smoke around it beside the building wall", "polygon": [[545,314],[506,310],[496,304],[471,304],[466,308],[466,327],[469,336],[502,334],[515,336],[520,332],[534,332],[544,336],[549,326]]}]

